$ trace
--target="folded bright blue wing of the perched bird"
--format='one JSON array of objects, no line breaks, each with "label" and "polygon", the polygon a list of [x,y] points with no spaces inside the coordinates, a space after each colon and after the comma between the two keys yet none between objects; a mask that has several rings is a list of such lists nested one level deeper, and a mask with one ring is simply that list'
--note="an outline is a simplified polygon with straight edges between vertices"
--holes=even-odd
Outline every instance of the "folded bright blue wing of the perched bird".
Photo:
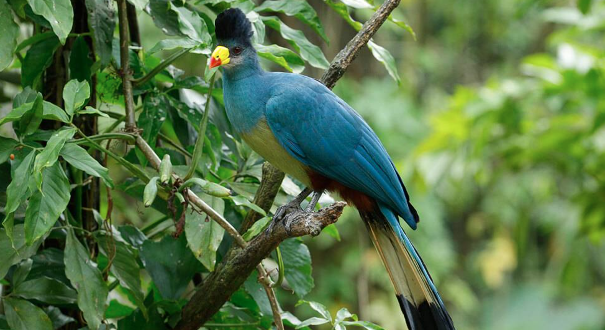
[{"label": "folded bright blue wing of the perched bird", "polygon": [[276,94],[267,101],[265,118],[278,142],[312,170],[381,201],[416,229],[405,186],[364,119],[312,78],[272,78]]}]

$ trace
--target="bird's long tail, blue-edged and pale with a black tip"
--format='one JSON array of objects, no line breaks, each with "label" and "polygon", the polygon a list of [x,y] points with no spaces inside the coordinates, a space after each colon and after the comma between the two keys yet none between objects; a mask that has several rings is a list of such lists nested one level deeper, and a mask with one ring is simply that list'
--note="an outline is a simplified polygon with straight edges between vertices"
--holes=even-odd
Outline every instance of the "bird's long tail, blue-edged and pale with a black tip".
[{"label": "bird's long tail, blue-edged and pale with a black tip", "polygon": [[450,330],[454,325],[422,259],[386,206],[359,211],[395,287],[410,330]]}]

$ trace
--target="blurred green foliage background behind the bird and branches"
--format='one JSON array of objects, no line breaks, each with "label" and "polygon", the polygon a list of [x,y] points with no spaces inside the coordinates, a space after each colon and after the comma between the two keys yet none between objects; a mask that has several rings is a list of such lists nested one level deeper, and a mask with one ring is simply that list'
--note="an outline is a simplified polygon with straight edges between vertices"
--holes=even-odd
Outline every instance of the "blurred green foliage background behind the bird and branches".
[{"label": "blurred green foliage background behind the bird and branches", "polygon": [[[280,17],[331,60],[355,30],[323,1],[310,3],[329,45]],[[402,0],[394,17],[416,38],[387,22],[374,40],[393,54],[401,84],[364,49],[335,92],[402,174],[421,218],[407,232],[457,328],[605,329],[605,2]],[[146,14],[139,20],[149,49],[164,36]],[[269,29],[267,39],[287,46]],[[196,54],[175,63],[186,75],[205,65]],[[0,84],[2,101],[18,91]],[[151,222],[116,196],[114,221]],[[340,240],[305,239],[315,278],[307,300],[405,329],[357,212],[348,208],[336,226]],[[284,309],[312,316],[278,293]]]}]

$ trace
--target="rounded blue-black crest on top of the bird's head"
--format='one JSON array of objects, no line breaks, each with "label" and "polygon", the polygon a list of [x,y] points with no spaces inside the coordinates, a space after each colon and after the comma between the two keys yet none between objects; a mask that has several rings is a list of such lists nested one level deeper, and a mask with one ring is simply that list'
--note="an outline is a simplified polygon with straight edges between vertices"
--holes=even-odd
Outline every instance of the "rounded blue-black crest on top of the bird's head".
[{"label": "rounded blue-black crest on top of the bird's head", "polygon": [[218,40],[236,39],[250,43],[250,38],[254,33],[252,24],[240,8],[229,8],[218,14],[214,25]]}]

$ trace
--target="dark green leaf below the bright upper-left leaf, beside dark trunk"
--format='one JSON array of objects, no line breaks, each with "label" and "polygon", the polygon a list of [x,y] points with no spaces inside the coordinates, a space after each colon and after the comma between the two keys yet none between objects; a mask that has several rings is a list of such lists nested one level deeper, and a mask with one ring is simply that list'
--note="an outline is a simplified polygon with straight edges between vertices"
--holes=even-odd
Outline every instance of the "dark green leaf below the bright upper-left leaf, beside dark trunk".
[{"label": "dark green leaf below the bright upper-left leaf, beside dark trunk", "polygon": [[36,86],[44,70],[53,62],[59,39],[51,37],[31,45],[21,65],[21,86]]}]

